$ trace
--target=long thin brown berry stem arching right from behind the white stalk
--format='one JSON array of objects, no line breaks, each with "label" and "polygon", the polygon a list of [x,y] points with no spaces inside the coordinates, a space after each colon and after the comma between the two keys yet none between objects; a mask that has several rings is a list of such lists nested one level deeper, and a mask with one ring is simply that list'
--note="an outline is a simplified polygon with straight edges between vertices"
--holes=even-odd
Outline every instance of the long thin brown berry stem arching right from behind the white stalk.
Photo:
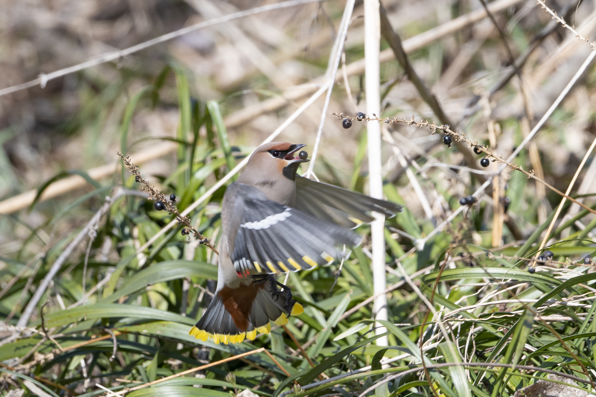
[{"label": "long thin brown berry stem arching right from behind the white stalk", "polygon": [[503,164],[507,164],[511,170],[517,170],[520,171],[524,174],[527,175],[528,179],[532,178],[534,180],[536,180],[536,182],[540,182],[542,183],[544,186],[548,187],[549,189],[551,189],[553,192],[557,193],[560,196],[563,196],[564,198],[566,198],[567,200],[571,201],[571,202],[575,202],[575,204],[578,204],[580,207],[585,208],[585,210],[588,210],[590,212],[592,212],[592,214],[596,214],[596,210],[592,210],[592,208],[588,207],[585,204],[582,204],[581,202],[577,201],[576,199],[567,196],[565,193],[561,192],[561,190],[558,190],[556,187],[549,185],[547,182],[545,182],[544,180],[540,179],[539,177],[535,176],[534,170],[530,170],[530,171],[526,171],[522,168],[521,165],[517,165],[517,164],[513,164],[511,162],[508,162],[507,160],[504,160],[502,155],[500,156],[496,156],[494,154],[492,154],[492,152],[489,152],[487,148],[484,148],[482,145],[479,145],[478,142],[472,142],[470,139],[467,139],[465,137],[465,133],[457,133],[454,130],[451,129],[451,127],[449,127],[447,124],[443,124],[442,126],[437,126],[437,124],[434,123],[429,123],[428,120],[426,121],[416,121],[414,119],[414,115],[412,115],[412,118],[410,120],[405,120],[405,118],[399,119],[397,117],[394,118],[370,118],[370,117],[364,117],[364,118],[356,118],[356,117],[351,117],[351,116],[344,116],[343,114],[337,114],[337,113],[332,113],[334,116],[336,116],[339,120],[344,120],[344,119],[349,119],[349,120],[364,120],[364,121],[384,121],[387,124],[393,124],[393,123],[404,123],[407,124],[408,126],[416,126],[418,128],[429,128],[431,130],[431,132],[434,134],[436,132],[436,130],[443,130],[443,132],[445,132],[445,134],[450,135],[455,141],[459,142],[459,141],[464,141],[467,142],[468,145],[470,146],[470,148],[473,148],[474,146],[476,146],[476,148],[478,148],[481,152],[483,152],[484,154],[486,154],[486,157],[489,158],[493,158],[493,162],[502,162]]}]

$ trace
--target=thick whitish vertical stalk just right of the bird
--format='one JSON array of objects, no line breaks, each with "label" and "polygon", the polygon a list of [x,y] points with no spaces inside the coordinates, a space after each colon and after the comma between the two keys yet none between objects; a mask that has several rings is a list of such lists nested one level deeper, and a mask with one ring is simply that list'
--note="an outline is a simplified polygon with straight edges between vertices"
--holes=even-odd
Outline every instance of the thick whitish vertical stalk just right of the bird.
[{"label": "thick whitish vertical stalk just right of the bird", "polygon": [[[379,0],[364,0],[364,60],[368,117],[381,116],[380,95],[380,39],[381,21],[379,16]],[[383,198],[383,176],[381,175],[381,124],[369,121],[368,129],[368,186],[371,197]],[[371,223],[373,239],[373,293],[387,288],[385,279],[385,217],[373,213],[375,220]],[[387,320],[387,296],[380,293],[374,300],[373,313],[377,320]],[[376,334],[387,332],[387,329],[375,324]],[[387,337],[377,339],[378,346],[387,346]]]}]

